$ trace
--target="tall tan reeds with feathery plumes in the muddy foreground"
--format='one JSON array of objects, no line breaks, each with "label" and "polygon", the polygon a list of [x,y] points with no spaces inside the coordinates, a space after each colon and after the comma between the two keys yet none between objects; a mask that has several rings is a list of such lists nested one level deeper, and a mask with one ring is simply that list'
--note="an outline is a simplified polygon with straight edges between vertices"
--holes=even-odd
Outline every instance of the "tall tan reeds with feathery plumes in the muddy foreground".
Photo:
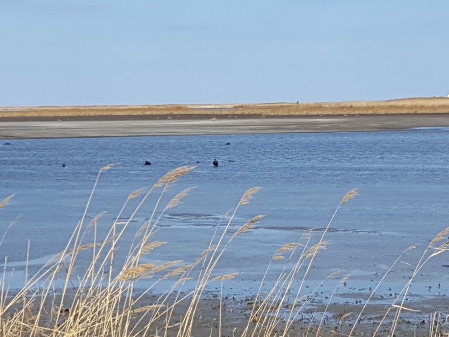
[{"label": "tall tan reeds with feathery plumes in the muddy foreground", "polygon": [[[188,263],[181,260],[164,263],[159,261],[142,262],[142,256],[151,254],[154,250],[167,244],[152,240],[152,236],[158,230],[164,212],[176,206],[190,192],[190,189],[181,191],[165,206],[162,206],[165,202],[163,196],[170,185],[183,175],[188,174],[193,167],[182,166],[172,170],[159,179],[146,193],[143,190],[132,192],[124,201],[106,236],[102,240],[98,240],[97,221],[103,213],[95,216],[89,224],[85,224],[85,219],[98,180],[101,175],[107,174],[106,171],[111,167],[113,165],[107,165],[99,170],[81,220],[74,228],[62,252],[45,264],[35,275],[30,278],[27,276],[26,284],[14,294],[11,294],[6,267],[4,268],[3,277],[0,280],[0,335],[6,337],[29,335],[55,337],[197,335],[195,323],[198,320],[198,310],[201,307],[205,289],[211,282],[221,282],[221,286],[218,299],[218,325],[210,333],[211,335],[221,335],[222,315],[224,315],[223,282],[233,279],[238,273],[216,275],[215,269],[236,237],[254,228],[257,222],[263,219],[262,215],[256,215],[239,226],[237,230],[231,230],[231,224],[235,221],[237,211],[246,205],[260,188],[250,188],[243,194],[237,205],[223,217],[223,221],[217,224],[209,246],[195,261]],[[156,194],[156,203],[154,209],[150,211],[149,220],[137,230],[131,228],[130,223],[141,211],[142,205],[150,195],[154,194]],[[311,295],[318,290],[318,287],[325,280],[333,279],[341,274],[341,271],[333,272],[313,290],[305,289],[305,281],[315,257],[320,250],[330,244],[325,237],[335,216],[341,206],[354,198],[356,194],[356,190],[353,189],[343,196],[325,230],[318,238],[314,238],[314,231],[311,229],[298,237],[296,242],[284,244],[275,250],[260,282],[251,312],[240,324],[243,326],[242,336],[342,335],[337,330],[344,322],[352,320],[355,312],[347,312],[342,315],[337,321],[336,325],[338,326],[335,327],[337,329],[335,331],[326,332],[322,324],[324,314],[328,310],[338,285],[345,283],[348,275],[344,275],[339,281],[336,281],[335,290],[329,298],[325,312],[323,312],[321,320],[315,320],[313,327],[311,320],[307,330],[299,332],[293,330],[293,323],[297,322],[298,316],[302,314],[312,298]],[[8,197],[2,202],[2,207],[6,206],[10,198]],[[136,201],[137,206],[128,210],[130,200],[137,198],[140,198],[139,201]],[[129,213],[130,215],[126,216]],[[118,221],[123,218],[128,220]],[[225,219],[227,221],[224,221]],[[385,318],[389,316],[390,312],[395,311],[389,327],[390,334],[394,335],[397,322],[401,318],[401,311],[410,310],[405,305],[405,299],[413,279],[430,259],[448,250],[448,242],[444,239],[446,234],[447,229],[438,233],[422,253],[415,271],[403,291],[386,308],[385,316],[380,321],[375,334],[385,325]],[[128,255],[123,256],[118,254],[117,247],[122,243],[122,238],[125,235],[134,235],[134,240]],[[443,239],[444,242],[441,243]],[[86,243],[88,240],[92,240],[92,242]],[[0,242],[0,246],[2,242]],[[349,335],[356,333],[359,318],[381,282],[386,279],[396,263],[403,262],[402,258],[414,248],[416,247],[411,246],[393,262],[372,291],[358,318],[353,321]],[[77,270],[78,262],[85,259],[86,256],[91,258],[89,265],[81,271]],[[6,264],[5,260],[5,266]],[[281,268],[281,272],[277,272],[279,273],[277,279],[269,291],[264,294],[262,285],[274,264],[277,264],[278,271]],[[77,284],[74,285],[74,279],[77,278]],[[147,278],[151,278],[151,285],[145,291],[136,294],[134,291],[136,283]],[[167,279],[172,280],[167,291],[153,297],[152,303],[145,302],[145,296],[152,292],[158,282]],[[188,288],[184,293],[180,292],[187,280],[196,280],[196,286]],[[55,292],[57,282],[63,283],[62,290],[59,292]],[[292,298],[293,300],[291,300]],[[179,314],[181,316],[178,316]],[[447,321],[448,316],[441,315],[440,312],[433,312],[429,321],[429,334],[432,336],[446,335]]]}]

